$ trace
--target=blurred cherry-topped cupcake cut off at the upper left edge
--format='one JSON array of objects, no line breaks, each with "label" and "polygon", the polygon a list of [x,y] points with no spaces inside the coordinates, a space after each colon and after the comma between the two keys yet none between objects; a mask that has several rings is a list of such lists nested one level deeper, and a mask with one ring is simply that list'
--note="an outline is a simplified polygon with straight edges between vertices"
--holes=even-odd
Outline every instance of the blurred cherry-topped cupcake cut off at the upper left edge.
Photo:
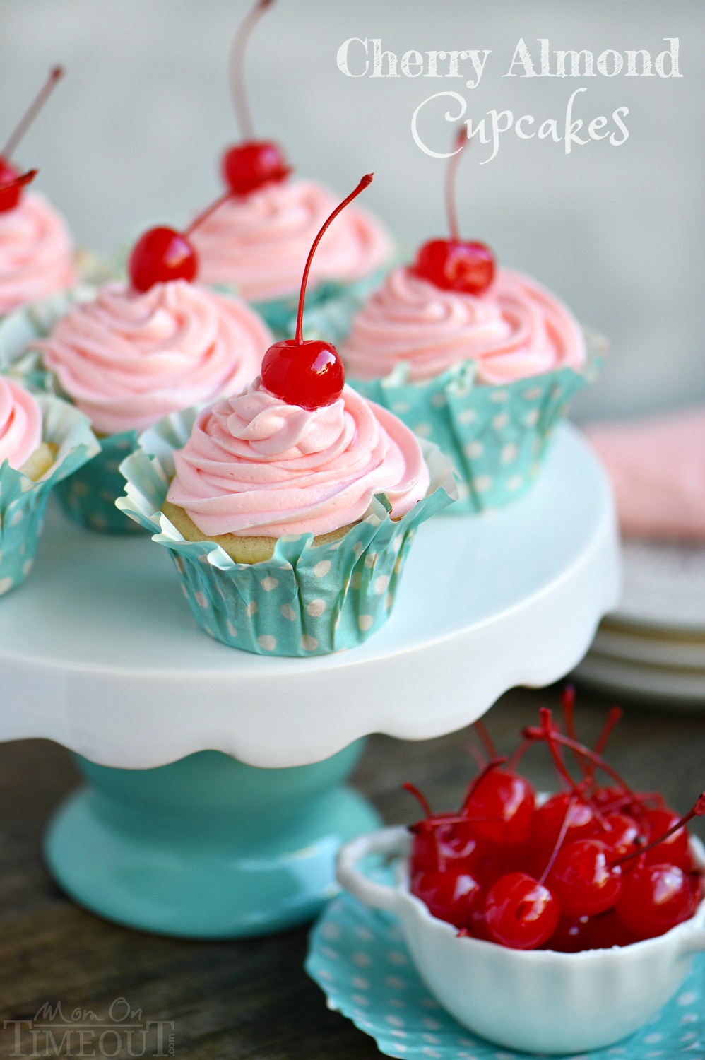
[{"label": "blurred cherry-topped cupcake cut off at the upper left edge", "polygon": [[0,317],[67,290],[76,280],[73,245],[63,217],[42,195],[24,191],[36,170],[11,161],[22,136],[61,76],[55,67],[0,152]]}]

